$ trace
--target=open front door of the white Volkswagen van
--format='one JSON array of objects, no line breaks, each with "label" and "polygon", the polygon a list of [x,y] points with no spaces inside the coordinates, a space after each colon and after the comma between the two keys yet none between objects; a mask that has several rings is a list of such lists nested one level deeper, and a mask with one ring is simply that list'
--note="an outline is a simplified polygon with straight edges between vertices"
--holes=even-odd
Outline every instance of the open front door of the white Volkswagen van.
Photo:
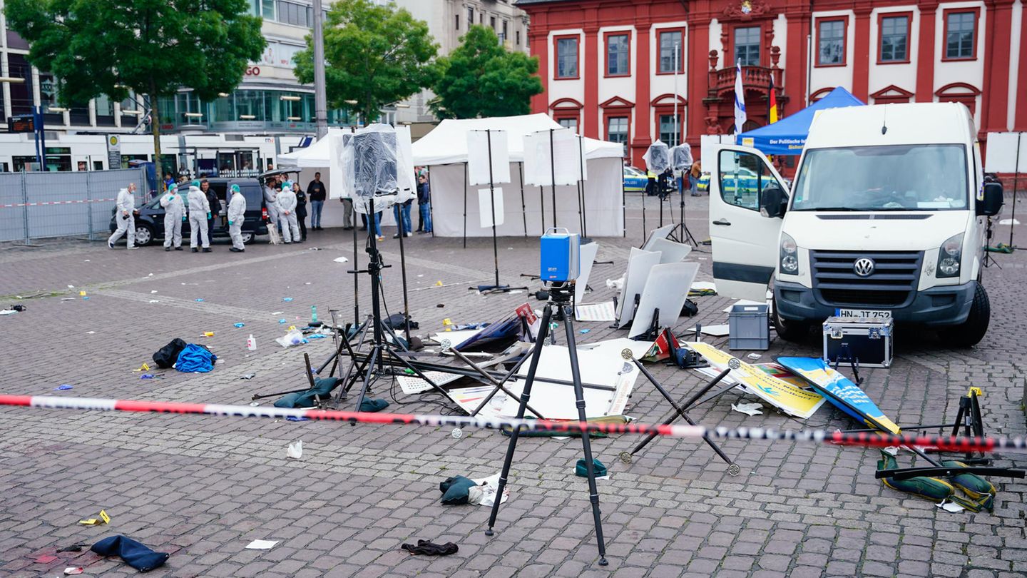
[{"label": "open front door of the white Volkswagen van", "polygon": [[749,147],[714,147],[710,169],[710,239],[717,293],[764,301],[777,266],[781,217],[760,214],[760,197],[768,186],[785,180],[762,152]]}]

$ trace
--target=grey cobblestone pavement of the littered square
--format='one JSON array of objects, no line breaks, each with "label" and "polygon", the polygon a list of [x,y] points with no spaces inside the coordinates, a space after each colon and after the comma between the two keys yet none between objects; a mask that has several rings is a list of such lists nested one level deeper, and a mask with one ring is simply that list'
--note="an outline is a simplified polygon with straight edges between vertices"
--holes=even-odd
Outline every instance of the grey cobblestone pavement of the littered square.
[{"label": "grey cobblestone pavement of the littered square", "polygon": [[[630,246],[642,239],[638,198],[629,203],[630,236],[601,239],[589,300],[612,296],[604,280],[619,277]],[[658,212],[648,203],[647,225]],[[668,218],[670,211],[668,211]],[[690,203],[688,222],[707,236],[706,198]],[[362,241],[363,242],[363,241]],[[384,244],[398,265],[398,244]],[[534,239],[499,241],[502,278],[518,284],[536,268]],[[314,251],[318,248],[318,251]],[[492,277],[489,239],[415,236],[407,246],[410,303],[420,333],[442,320],[495,319],[527,301],[527,292],[480,296],[467,287]],[[110,251],[102,243],[45,242],[0,248],[0,305],[28,311],[0,318],[0,393],[245,404],[256,392],[302,387],[302,356],[326,359],[331,340],[282,350],[279,319],[299,324],[316,304],[352,319],[347,268],[352,240],[339,230],[311,232],[304,245],[256,244],[244,255],[219,242],[213,254],[165,253],[159,248]],[[708,253],[693,253],[709,280]],[[992,326],[980,347],[947,349],[930,333],[900,328],[895,366],[866,371],[865,389],[900,424],[952,420],[968,386],[984,389],[990,433],[1025,433],[1022,299],[1023,253],[998,255],[985,284]],[[363,253],[358,262],[365,262]],[[402,306],[400,268],[386,269],[388,310]],[[436,282],[443,286],[438,287]],[[74,286],[70,288],[69,286]],[[85,290],[89,299],[78,291]],[[534,287],[533,287],[534,290]],[[370,310],[360,280],[360,313]],[[33,296],[20,300],[13,295]],[[283,297],[292,297],[286,302]],[[65,300],[69,299],[69,300]],[[199,301],[197,299],[203,299]],[[700,297],[698,321],[723,323],[729,299]],[[245,323],[237,329],[234,323]],[[690,327],[692,321],[678,328]],[[601,323],[581,341],[621,335]],[[203,331],[214,331],[200,339]],[[245,349],[253,333],[259,348]],[[224,362],[208,374],[157,371],[141,381],[132,370],[173,337],[211,346]],[[719,342],[719,341],[718,341]],[[775,355],[815,355],[774,340]],[[650,365],[672,394],[699,387],[692,372]],[[240,381],[256,373],[251,381]],[[436,396],[397,395],[381,385],[390,410],[438,412]],[[851,427],[829,405],[807,424],[778,413],[747,417],[730,409],[744,398],[728,394],[692,416],[706,425]],[[268,400],[269,402],[270,400]],[[745,401],[753,401],[745,399]],[[661,420],[665,402],[641,380],[627,413]],[[158,576],[1022,576],[1027,573],[1022,481],[995,479],[993,513],[949,513],[882,487],[873,473],[876,449],[732,440],[727,454],[736,477],[709,447],[694,440],[658,439],[630,465],[617,455],[638,438],[597,439],[597,457],[611,477],[599,482],[608,567],[599,567],[585,480],[573,474],[576,440],[524,439],[496,535],[487,538],[488,510],[445,507],[438,484],[447,476],[491,475],[502,463],[506,438],[448,429],[113,412],[0,408],[0,575],[59,575],[83,566],[88,575],[127,576],[117,558],[87,549],[50,563],[40,555],[71,544],[124,534],[170,552]],[[286,446],[304,443],[301,460]],[[908,456],[900,458],[910,463]],[[1016,456],[1000,465],[1025,465]],[[78,525],[101,509],[107,527]],[[270,550],[248,550],[253,539],[277,540]],[[441,558],[411,556],[404,542],[456,542]],[[44,558],[45,559],[45,558]]]}]

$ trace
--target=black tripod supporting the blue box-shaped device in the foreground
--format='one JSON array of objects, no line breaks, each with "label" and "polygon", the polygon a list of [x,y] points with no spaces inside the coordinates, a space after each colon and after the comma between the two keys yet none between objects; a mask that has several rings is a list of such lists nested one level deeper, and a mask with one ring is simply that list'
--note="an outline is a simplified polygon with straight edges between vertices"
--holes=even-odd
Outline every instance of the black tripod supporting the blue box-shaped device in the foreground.
[{"label": "black tripod supporting the blue box-shaped device in the foreground", "polygon": [[[577,346],[574,342],[574,311],[571,309],[571,299],[574,296],[573,283],[553,284],[549,287],[549,300],[542,311],[542,324],[538,330],[538,337],[535,339],[535,349],[531,354],[531,363],[528,366],[528,376],[524,384],[524,391],[521,394],[521,403],[518,406],[517,418],[524,419],[525,409],[528,407],[531,398],[531,387],[535,383],[535,371],[538,369],[538,361],[542,357],[542,347],[549,332],[549,322],[554,319],[556,310],[556,320],[563,322],[567,332],[567,352],[570,356],[571,380],[574,383],[575,405],[578,410],[578,421],[585,421],[584,413],[584,390],[581,386],[581,371],[577,361]],[[506,476],[510,472],[510,463],[514,461],[514,451],[517,449],[518,435],[520,428],[510,431],[510,442],[506,448],[506,458],[503,460],[503,469],[499,474],[499,489],[496,493],[496,501],[492,504],[492,513],[489,514],[489,529],[485,531],[486,536],[492,536],[492,529],[496,525],[496,516],[499,515],[499,503],[506,486]],[[592,515],[596,523],[596,541],[599,544],[599,565],[606,566],[606,543],[603,541],[603,521],[599,511],[599,490],[596,487],[596,469],[592,459],[592,443],[588,435],[581,436],[581,448],[584,450],[585,472],[588,477],[588,501],[592,502]]]}]

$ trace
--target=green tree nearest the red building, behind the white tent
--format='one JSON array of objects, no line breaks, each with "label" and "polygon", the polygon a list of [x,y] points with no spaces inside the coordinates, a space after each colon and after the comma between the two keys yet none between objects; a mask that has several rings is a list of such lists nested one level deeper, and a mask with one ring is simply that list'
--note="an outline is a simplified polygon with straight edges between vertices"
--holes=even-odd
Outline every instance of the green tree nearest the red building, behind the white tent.
[{"label": "green tree nearest the red building, behind the white tent", "polygon": [[450,56],[439,59],[442,75],[432,91],[436,115],[456,118],[514,116],[531,112],[542,93],[538,57],[510,52],[488,27],[472,26]]}]

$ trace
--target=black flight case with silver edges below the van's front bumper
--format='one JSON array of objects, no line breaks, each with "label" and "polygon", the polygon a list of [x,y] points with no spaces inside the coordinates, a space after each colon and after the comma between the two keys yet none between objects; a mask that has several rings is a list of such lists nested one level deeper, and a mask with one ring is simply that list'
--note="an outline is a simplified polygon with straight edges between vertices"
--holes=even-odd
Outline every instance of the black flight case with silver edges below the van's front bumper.
[{"label": "black flight case with silver edges below the van's front bumper", "polygon": [[824,322],[824,361],[839,367],[891,367],[895,324],[891,319],[829,317]]}]

